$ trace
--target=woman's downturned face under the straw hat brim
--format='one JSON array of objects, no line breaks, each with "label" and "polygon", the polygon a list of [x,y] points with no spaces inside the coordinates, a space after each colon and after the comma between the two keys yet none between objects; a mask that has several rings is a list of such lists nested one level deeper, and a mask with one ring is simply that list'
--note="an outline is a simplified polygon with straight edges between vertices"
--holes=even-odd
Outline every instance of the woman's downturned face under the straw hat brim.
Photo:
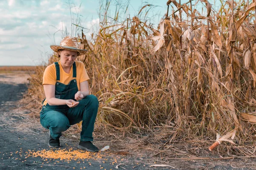
[{"label": "woman's downturned face under the straw hat brim", "polygon": [[69,51],[69,50],[62,50],[58,52],[61,58],[61,65],[62,67],[70,67],[73,65],[74,61],[77,58],[76,51]]}]

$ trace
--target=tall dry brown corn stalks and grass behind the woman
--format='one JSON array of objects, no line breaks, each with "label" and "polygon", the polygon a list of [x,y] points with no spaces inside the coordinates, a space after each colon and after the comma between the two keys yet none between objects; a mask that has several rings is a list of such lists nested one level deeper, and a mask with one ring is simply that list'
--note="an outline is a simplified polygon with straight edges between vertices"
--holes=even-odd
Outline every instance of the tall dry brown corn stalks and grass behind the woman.
[{"label": "tall dry brown corn stalks and grass behind the woman", "polygon": [[[199,3],[205,14],[195,8]],[[256,1],[221,1],[213,11],[207,0],[169,0],[158,28],[140,19],[148,6],[121,22],[113,22],[118,12],[110,19],[106,10],[92,40],[79,34],[88,52],[78,59],[100,103],[96,127],[130,132],[166,127],[169,132],[158,137],[169,144],[177,139],[212,144],[217,138],[254,149]],[[49,64],[56,60],[53,55]],[[42,76],[38,79],[44,67],[37,71],[29,88],[34,110],[44,98]]]}]

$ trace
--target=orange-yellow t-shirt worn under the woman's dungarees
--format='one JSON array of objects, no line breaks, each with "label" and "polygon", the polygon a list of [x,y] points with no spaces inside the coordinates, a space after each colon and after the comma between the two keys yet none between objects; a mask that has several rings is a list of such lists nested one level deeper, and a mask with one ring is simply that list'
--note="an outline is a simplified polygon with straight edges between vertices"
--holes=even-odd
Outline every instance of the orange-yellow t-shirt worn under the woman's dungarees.
[{"label": "orange-yellow t-shirt worn under the woman's dungarees", "polygon": [[[89,79],[89,76],[85,70],[84,63],[81,61],[76,61],[76,78],[73,77],[73,65],[71,67],[70,73],[66,73],[62,66],[61,62],[59,61],[60,66],[60,80],[59,82],[63,83],[64,85],[68,85],[71,80],[76,79],[78,90],[80,91],[80,82],[87,81]],[[56,83],[56,68],[55,64],[48,65],[47,68],[44,71],[43,76],[43,85],[55,85]],[[47,100],[45,99],[44,104],[47,104]]]}]

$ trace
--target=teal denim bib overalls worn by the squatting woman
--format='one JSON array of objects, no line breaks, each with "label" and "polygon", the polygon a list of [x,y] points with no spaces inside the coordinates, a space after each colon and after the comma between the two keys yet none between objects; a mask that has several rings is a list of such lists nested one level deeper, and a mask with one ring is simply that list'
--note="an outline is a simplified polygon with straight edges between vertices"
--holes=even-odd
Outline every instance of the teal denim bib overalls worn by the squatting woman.
[{"label": "teal denim bib overalls worn by the squatting woman", "polygon": [[[60,66],[55,62],[56,84],[55,98],[73,99],[78,91],[76,83],[76,63],[73,63],[73,80],[68,85],[64,85],[60,80]],[[44,101],[43,101],[44,102]],[[43,106],[40,112],[41,125],[50,130],[53,139],[59,139],[61,132],[66,131],[70,125],[82,122],[82,131],[80,134],[81,141],[93,141],[93,129],[96,115],[98,112],[99,102],[96,96],[88,95],[79,100],[79,105],[69,108],[67,105],[47,105]]]}]

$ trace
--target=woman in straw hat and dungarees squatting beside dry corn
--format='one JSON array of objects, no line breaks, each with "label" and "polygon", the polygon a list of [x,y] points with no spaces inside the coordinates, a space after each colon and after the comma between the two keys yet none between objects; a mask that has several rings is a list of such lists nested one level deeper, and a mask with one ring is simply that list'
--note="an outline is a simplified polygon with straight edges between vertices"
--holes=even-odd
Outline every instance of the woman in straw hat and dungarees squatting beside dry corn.
[{"label": "woman in straw hat and dungarees squatting beside dry corn", "polygon": [[61,132],[82,120],[79,149],[97,152],[93,145],[93,129],[99,102],[89,95],[89,79],[84,64],[77,56],[87,50],[78,49],[75,37],[67,36],[60,45],[51,45],[59,62],[44,71],[43,85],[46,99],[40,112],[41,125],[50,130],[49,147],[60,147]]}]

